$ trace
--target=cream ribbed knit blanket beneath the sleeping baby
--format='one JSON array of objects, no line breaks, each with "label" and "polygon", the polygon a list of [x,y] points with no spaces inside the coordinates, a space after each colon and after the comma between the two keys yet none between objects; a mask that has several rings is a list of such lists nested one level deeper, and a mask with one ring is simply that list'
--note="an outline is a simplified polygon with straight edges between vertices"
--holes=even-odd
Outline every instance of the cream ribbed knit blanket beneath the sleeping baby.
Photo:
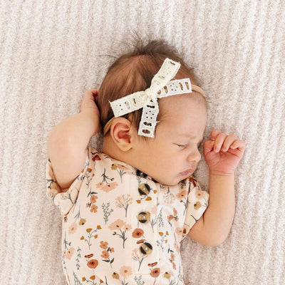
[{"label": "cream ribbed knit blanket beneath the sleeping baby", "polygon": [[[0,0],[0,283],[64,284],[48,133],[78,113],[137,32],[195,68],[205,138],[219,128],[247,143],[229,237],[219,247],[185,239],[185,284],[285,284],[284,27],[282,0]],[[207,189],[204,161],[196,176]]]}]

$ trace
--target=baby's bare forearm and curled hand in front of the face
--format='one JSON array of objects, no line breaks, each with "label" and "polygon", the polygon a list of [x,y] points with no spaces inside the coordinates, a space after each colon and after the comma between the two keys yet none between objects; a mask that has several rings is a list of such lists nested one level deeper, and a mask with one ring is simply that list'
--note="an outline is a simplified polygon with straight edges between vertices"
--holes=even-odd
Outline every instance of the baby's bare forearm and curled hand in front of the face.
[{"label": "baby's bare forearm and curled hand in front of the face", "polygon": [[220,130],[212,130],[211,140],[204,142],[204,157],[209,166],[209,206],[190,229],[191,239],[216,246],[227,238],[234,219],[234,170],[244,149],[244,141]]}]

